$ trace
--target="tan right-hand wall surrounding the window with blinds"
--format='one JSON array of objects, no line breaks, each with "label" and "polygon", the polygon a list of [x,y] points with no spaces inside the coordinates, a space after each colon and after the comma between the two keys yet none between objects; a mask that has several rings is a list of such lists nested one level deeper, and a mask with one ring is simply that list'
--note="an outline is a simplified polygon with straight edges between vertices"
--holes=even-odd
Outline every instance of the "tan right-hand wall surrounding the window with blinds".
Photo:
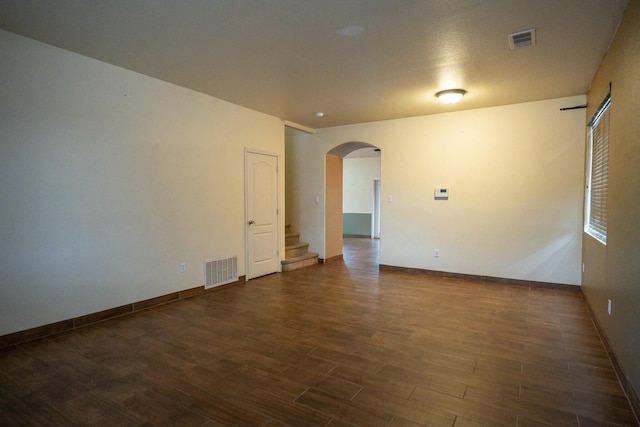
[{"label": "tan right-hand wall surrounding the window with blinds", "polygon": [[591,117],[612,84],[607,244],[584,234],[582,283],[636,394],[640,392],[639,73],[640,1],[631,0],[588,94],[587,117]]}]

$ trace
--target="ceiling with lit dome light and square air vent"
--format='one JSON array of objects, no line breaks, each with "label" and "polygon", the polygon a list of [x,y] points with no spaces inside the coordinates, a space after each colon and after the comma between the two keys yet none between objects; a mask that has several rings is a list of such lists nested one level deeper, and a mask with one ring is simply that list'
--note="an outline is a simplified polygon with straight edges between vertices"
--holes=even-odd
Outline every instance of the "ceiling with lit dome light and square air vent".
[{"label": "ceiling with lit dome light and square air vent", "polygon": [[2,0],[0,28],[320,128],[585,94],[628,2]]}]

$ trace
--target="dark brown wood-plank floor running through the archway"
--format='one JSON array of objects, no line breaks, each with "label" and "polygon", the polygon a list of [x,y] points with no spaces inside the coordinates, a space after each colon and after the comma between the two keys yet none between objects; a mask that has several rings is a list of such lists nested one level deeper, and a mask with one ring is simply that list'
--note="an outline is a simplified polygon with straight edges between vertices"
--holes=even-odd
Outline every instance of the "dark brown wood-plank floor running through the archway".
[{"label": "dark brown wood-plank floor running through the archway", "polygon": [[580,293],[335,261],[0,351],[0,425],[635,425]]}]

